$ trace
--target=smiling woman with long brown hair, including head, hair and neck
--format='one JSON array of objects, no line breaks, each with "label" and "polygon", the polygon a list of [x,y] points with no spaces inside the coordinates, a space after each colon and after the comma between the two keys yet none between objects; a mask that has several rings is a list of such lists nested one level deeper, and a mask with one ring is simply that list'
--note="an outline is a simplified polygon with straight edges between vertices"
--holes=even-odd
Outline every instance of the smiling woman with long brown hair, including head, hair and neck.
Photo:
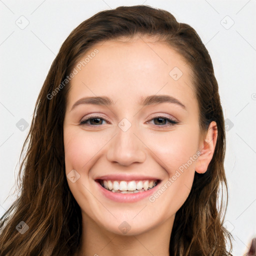
[{"label": "smiling woman with long brown hair, including head, hair and neck", "polygon": [[22,151],[0,255],[231,255],[212,62],[165,10],[120,6],[78,25]]}]

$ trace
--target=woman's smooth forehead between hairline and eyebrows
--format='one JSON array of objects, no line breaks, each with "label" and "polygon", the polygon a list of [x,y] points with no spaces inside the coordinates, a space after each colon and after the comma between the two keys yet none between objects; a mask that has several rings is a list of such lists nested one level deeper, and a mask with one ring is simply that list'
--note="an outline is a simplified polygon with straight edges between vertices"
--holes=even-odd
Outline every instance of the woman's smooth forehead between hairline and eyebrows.
[{"label": "woman's smooth forehead between hairline and eyebrows", "polygon": [[75,68],[78,72],[71,79],[69,103],[79,96],[95,95],[130,103],[151,94],[169,94],[188,103],[195,100],[189,65],[169,45],[154,38],[96,43]]}]

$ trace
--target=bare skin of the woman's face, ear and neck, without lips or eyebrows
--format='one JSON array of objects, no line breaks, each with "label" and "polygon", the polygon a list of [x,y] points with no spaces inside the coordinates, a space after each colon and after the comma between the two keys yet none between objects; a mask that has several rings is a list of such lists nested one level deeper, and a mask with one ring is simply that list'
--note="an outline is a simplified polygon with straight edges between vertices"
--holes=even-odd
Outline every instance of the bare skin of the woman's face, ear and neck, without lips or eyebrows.
[{"label": "bare skin of the woman's face, ear and neck, without lips or eyebrows", "polygon": [[[99,52],[71,80],[63,124],[65,171],[80,175],[74,183],[67,178],[82,213],[77,255],[167,256],[175,213],[190,192],[194,172],[205,172],[212,158],[216,123],[200,130],[191,70],[168,45],[153,38],[108,40],[84,56],[94,48]],[[176,81],[169,75],[175,66],[183,73]],[[139,105],[141,97],[155,94],[173,96],[185,109],[168,102]],[[103,95],[114,104],[79,104],[71,110],[82,97]],[[178,123],[168,126],[163,119],[161,124],[153,119],[158,114]],[[92,115],[103,119],[80,124]],[[123,118],[131,123],[127,131],[118,127]],[[153,202],[146,197],[117,203],[102,196],[94,181],[98,175],[130,173],[150,174],[164,184],[198,150],[200,156]],[[126,234],[118,228],[123,221],[131,227]]]}]

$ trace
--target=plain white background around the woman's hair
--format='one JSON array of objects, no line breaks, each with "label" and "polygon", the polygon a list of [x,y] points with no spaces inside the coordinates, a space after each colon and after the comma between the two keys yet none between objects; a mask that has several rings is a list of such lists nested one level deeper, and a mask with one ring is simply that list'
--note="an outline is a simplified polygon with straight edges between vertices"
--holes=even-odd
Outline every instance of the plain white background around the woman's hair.
[{"label": "plain white background around the woman's hair", "polygon": [[18,159],[29,129],[16,123],[23,118],[30,125],[60,45],[96,12],[136,4],[163,8],[191,25],[212,58],[228,119],[225,226],[234,237],[233,255],[243,255],[256,236],[256,0],[0,0],[0,215],[15,199]]}]

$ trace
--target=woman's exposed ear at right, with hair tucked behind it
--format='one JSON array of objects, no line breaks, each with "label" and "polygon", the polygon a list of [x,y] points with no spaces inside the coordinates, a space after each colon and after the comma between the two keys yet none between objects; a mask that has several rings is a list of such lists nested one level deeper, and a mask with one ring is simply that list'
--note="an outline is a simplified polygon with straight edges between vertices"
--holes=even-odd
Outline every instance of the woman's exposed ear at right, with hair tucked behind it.
[{"label": "woman's exposed ear at right, with hair tucked behind it", "polygon": [[195,165],[196,172],[204,173],[207,170],[207,167],[214,153],[216,141],[217,124],[215,121],[212,121],[208,126],[206,134],[203,135],[202,141],[199,146],[201,150]]}]

